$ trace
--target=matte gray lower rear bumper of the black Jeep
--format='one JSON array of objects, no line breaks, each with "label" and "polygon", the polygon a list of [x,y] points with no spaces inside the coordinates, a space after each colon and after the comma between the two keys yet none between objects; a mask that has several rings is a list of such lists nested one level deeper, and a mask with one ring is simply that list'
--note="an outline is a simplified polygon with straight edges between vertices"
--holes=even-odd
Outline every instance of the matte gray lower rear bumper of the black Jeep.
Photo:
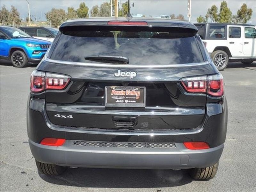
[{"label": "matte gray lower rear bumper of the black Jeep", "polygon": [[188,169],[209,167],[221,156],[224,144],[210,149],[189,150],[183,143],[176,148],[116,148],[73,146],[67,140],[63,146],[52,147],[29,140],[37,161],[71,167]]}]

